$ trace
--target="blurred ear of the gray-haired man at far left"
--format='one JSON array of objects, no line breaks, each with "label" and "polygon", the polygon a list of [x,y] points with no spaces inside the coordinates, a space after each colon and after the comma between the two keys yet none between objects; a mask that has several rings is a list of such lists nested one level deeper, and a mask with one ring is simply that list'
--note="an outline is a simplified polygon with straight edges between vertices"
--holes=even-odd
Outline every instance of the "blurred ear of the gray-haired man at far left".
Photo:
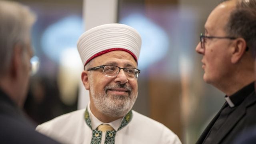
[{"label": "blurred ear of the gray-haired man at far left", "polygon": [[12,59],[11,59],[11,66],[10,66],[10,76],[12,78],[17,78],[20,72],[20,68],[22,67],[22,46],[20,44],[15,44],[13,52],[12,52]]}]

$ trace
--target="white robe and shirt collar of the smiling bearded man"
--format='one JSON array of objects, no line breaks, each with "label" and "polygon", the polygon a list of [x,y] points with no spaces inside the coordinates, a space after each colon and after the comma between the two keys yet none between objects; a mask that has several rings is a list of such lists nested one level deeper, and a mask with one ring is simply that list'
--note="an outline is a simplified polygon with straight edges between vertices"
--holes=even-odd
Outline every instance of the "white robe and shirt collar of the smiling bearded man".
[{"label": "white robe and shirt collar of the smiling bearded man", "polygon": [[[36,130],[63,144],[90,144],[92,130],[84,119],[85,109],[76,110],[37,126]],[[88,112],[95,129],[100,122],[90,111]],[[132,110],[132,120],[116,132],[115,144],[181,144],[180,139],[163,124],[152,120]],[[121,119],[110,122],[115,130],[118,129]],[[105,132],[102,134],[101,144],[104,144]]]}]

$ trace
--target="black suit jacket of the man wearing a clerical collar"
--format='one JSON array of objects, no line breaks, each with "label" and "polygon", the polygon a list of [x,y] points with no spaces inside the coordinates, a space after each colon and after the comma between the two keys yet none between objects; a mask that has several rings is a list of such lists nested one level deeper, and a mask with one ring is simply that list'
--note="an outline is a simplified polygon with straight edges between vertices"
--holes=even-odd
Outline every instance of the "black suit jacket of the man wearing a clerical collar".
[{"label": "black suit jacket of the man wearing a clerical collar", "polygon": [[[230,144],[239,134],[245,132],[246,130],[250,129],[251,126],[256,124],[255,90],[250,92],[250,94],[245,97],[246,98],[242,101],[242,103],[237,106],[230,116],[228,116],[228,119],[224,123],[224,127],[222,127],[216,136],[214,136],[212,144]],[[203,144],[208,132],[218,119],[221,110],[206,127],[196,144]]]}]

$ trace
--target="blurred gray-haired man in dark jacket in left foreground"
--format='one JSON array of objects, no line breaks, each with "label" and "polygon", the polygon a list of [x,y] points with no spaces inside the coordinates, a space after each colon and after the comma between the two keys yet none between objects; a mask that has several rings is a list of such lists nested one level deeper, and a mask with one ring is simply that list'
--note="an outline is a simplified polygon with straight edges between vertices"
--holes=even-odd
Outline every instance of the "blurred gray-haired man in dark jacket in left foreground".
[{"label": "blurred gray-haired man in dark jacket in left foreground", "polygon": [[36,16],[28,6],[0,0],[1,144],[58,144],[36,132],[36,126],[22,112],[29,78],[38,64],[30,46],[30,32],[35,20]]}]

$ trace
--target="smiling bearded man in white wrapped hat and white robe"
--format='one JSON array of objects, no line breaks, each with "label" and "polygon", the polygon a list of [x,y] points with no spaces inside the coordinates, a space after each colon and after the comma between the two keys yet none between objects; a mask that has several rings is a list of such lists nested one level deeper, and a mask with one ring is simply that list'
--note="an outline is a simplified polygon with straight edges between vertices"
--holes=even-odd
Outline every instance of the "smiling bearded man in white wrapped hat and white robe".
[{"label": "smiling bearded man in white wrapped hat and white robe", "polygon": [[36,130],[65,144],[180,144],[163,124],[132,109],[138,94],[141,38],[124,24],[92,28],[78,40],[86,109],[45,122]]}]

